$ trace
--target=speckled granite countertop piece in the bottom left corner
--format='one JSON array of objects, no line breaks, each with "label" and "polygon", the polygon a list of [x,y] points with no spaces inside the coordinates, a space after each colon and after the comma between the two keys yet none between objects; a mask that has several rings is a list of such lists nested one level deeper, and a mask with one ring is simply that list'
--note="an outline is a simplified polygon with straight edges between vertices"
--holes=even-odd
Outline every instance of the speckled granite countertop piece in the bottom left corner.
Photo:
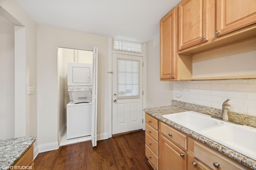
[{"label": "speckled granite countertop piece in the bottom left corner", "polygon": [[0,140],[0,169],[13,166],[35,141],[32,136]]}]

